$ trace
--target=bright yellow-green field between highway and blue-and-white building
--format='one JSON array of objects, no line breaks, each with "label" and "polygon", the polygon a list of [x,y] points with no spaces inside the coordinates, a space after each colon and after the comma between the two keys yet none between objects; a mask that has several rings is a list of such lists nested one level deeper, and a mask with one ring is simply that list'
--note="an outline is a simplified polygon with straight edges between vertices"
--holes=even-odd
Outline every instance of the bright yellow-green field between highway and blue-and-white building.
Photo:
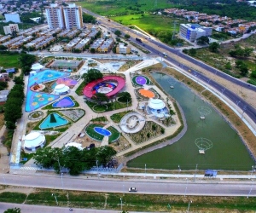
[{"label": "bright yellow-green field between highway and blue-and-white building", "polygon": [[173,21],[176,21],[176,32],[179,31],[179,24],[184,23],[184,20],[177,20],[172,17],[167,17],[157,14],[131,14],[123,16],[111,17],[111,19],[125,25],[135,25],[142,28],[144,31],[154,34],[155,32],[173,32],[174,25]]}]

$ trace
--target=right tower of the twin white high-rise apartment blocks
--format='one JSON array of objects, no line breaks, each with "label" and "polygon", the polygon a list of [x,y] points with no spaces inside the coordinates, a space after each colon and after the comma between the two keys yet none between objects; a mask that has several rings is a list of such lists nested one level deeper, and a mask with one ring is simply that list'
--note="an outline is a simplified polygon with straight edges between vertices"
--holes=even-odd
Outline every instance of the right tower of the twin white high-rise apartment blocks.
[{"label": "right tower of the twin white high-rise apartment blocks", "polygon": [[83,28],[83,12],[81,6],[70,3],[67,7],[63,7],[63,14],[67,29],[73,29],[73,27],[78,29]]}]

